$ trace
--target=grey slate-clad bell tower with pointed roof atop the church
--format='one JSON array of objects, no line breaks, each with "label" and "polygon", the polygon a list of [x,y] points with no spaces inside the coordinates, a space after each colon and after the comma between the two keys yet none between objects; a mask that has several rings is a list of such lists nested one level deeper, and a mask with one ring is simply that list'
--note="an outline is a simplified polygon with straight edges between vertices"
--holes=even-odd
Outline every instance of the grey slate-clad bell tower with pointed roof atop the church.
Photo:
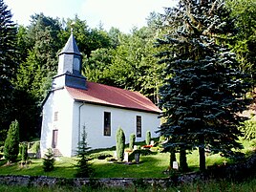
[{"label": "grey slate-clad bell tower with pointed roof atop the church", "polygon": [[52,89],[64,86],[86,90],[86,77],[81,75],[82,54],[79,52],[73,32],[58,54],[57,75],[53,76]]}]

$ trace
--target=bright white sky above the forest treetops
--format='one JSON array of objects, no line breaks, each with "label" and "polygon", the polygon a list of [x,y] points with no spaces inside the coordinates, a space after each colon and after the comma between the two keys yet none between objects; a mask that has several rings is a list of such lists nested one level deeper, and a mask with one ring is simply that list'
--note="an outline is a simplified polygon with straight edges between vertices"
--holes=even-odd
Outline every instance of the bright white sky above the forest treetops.
[{"label": "bright white sky above the forest treetops", "polygon": [[43,12],[53,18],[75,18],[75,14],[86,20],[90,28],[103,24],[121,32],[130,32],[133,27],[146,25],[152,11],[163,12],[164,7],[173,7],[176,0],[4,0],[13,14],[12,20],[28,26],[31,15]]}]

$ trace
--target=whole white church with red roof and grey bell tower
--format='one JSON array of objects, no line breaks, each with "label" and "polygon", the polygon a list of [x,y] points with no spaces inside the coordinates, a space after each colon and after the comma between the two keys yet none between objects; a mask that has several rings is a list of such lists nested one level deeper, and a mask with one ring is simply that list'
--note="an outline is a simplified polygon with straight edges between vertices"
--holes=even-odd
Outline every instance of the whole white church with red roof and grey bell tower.
[{"label": "whole white church with red roof and grey bell tower", "polygon": [[160,109],[138,92],[87,81],[72,33],[59,53],[57,75],[43,102],[41,155],[53,148],[64,157],[75,156],[83,128],[92,149],[115,146],[118,127],[126,143],[132,133],[136,141],[145,140],[147,131],[156,138],[159,115]]}]

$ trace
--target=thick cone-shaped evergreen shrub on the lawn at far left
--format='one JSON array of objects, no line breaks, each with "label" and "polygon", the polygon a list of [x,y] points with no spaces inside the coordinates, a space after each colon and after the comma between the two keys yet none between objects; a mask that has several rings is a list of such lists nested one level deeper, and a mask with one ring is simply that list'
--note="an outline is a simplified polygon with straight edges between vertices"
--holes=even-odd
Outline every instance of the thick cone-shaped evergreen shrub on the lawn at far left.
[{"label": "thick cone-shaped evergreen shrub on the lawn at far left", "polygon": [[4,156],[6,160],[15,161],[19,154],[19,123],[11,122],[7,139],[5,140]]}]

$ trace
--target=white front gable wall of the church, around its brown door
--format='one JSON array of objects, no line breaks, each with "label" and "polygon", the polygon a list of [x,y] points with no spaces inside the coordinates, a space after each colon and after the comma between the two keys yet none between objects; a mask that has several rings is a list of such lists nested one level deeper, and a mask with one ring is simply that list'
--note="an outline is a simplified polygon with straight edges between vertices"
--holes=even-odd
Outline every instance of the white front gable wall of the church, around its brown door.
[{"label": "white front gable wall of the church, around its brown door", "polygon": [[[57,146],[63,156],[71,156],[72,125],[74,100],[65,89],[52,92],[43,106],[43,120],[41,130],[41,155],[47,148],[52,148],[53,130],[58,130]],[[54,112],[58,112],[57,121],[54,121]]]}]

